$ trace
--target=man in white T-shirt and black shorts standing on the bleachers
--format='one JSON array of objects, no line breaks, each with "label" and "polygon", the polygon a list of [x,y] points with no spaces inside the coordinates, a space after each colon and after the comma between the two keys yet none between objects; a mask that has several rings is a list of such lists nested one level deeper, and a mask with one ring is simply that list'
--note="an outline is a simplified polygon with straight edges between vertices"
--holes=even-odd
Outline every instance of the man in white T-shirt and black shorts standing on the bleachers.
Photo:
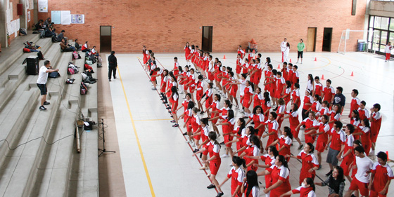
[{"label": "man in white T-shirt and black shorts standing on the bleachers", "polygon": [[49,60],[46,60],[44,62],[44,66],[39,68],[39,73],[38,73],[38,79],[37,79],[37,86],[41,92],[41,105],[39,106],[40,110],[46,110],[44,105],[50,104],[49,102],[46,102],[46,81],[48,81],[48,73],[50,72],[58,72],[59,69],[52,69],[51,67],[51,62]]}]

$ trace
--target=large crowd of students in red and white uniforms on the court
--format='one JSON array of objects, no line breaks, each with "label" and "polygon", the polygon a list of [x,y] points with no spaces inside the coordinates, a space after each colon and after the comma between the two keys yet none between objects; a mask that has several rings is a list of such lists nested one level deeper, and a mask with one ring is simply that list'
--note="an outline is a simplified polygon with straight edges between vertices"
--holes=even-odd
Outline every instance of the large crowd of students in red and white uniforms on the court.
[{"label": "large crowd of students in red and white uniforms on the court", "polygon": [[[182,67],[174,57],[170,70],[159,67],[152,50],[144,46],[144,69],[151,76],[152,90],[159,86],[161,100],[174,118],[172,126],[179,127],[182,121],[187,142],[195,147],[193,155],[201,154],[201,170],[210,170],[208,189],[216,188],[217,196],[224,195],[221,188],[229,179],[231,196],[316,196],[315,185],[329,186],[331,197],[387,196],[394,178],[387,154],[379,152],[375,163],[367,157],[375,154],[382,120],[380,104],[373,104],[369,111],[353,89],[350,114],[343,114],[343,88],[333,88],[329,79],[324,86],[312,74],[302,87],[302,98],[297,65],[283,62],[281,69],[274,69],[269,57],[264,60],[260,53],[241,46],[235,71],[198,46],[186,43],[184,51],[186,65]],[[282,61],[287,58],[285,54]],[[236,119],[236,113],[243,116]],[[350,123],[341,121],[344,115]],[[282,125],[287,118],[289,126]],[[299,135],[304,135],[305,143]],[[221,143],[217,141],[220,136],[224,138]],[[262,139],[267,143],[263,145]],[[293,140],[298,143],[298,154],[291,153]],[[225,147],[222,156],[221,146]],[[315,182],[324,151],[328,151],[330,169],[324,182]],[[220,183],[216,175],[221,158],[229,156],[232,168]],[[289,182],[291,158],[302,161],[300,186],[295,189]],[[256,172],[258,168],[264,170]],[[265,187],[259,186],[258,176],[265,176]],[[345,179],[350,188],[344,193]]]}]

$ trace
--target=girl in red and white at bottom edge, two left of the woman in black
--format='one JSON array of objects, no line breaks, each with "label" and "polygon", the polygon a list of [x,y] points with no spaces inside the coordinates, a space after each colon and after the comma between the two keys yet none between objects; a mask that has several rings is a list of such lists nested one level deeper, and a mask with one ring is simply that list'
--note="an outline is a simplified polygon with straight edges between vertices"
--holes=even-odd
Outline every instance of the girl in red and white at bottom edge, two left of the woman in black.
[{"label": "girl in red and white at bottom edge, two left of the woman in black", "polygon": [[[272,175],[272,185],[263,190],[264,193],[269,193],[269,196],[281,196],[287,191],[291,190],[290,182],[288,181],[290,170],[288,170],[287,161],[284,156],[277,156],[275,164],[268,170],[258,173],[258,176]],[[286,195],[284,197],[289,197]]]}]

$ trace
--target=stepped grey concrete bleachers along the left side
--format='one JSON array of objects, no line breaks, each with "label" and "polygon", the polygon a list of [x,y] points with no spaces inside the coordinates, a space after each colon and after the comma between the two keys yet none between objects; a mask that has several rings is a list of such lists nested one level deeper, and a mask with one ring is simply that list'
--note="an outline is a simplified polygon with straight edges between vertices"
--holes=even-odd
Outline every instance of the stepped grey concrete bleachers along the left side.
[{"label": "stepped grey concrete bleachers along the left side", "polygon": [[[3,50],[0,57],[10,64],[0,64],[0,196],[98,196],[97,129],[80,131],[81,153],[75,149],[80,113],[97,123],[96,84],[89,86],[87,95],[80,95],[84,59],[73,61],[80,73],[70,76],[71,52],[61,53],[59,43],[51,43],[51,39],[25,38],[33,36],[16,38],[15,45]],[[37,76],[25,74],[22,66],[27,56],[37,53],[4,55],[22,51],[24,41],[42,46],[45,60],[61,74],[48,79],[46,100],[51,104],[46,111],[38,109]],[[39,62],[40,67],[43,64]],[[96,68],[96,64],[92,66]],[[65,84],[67,78],[76,80]]]}]

